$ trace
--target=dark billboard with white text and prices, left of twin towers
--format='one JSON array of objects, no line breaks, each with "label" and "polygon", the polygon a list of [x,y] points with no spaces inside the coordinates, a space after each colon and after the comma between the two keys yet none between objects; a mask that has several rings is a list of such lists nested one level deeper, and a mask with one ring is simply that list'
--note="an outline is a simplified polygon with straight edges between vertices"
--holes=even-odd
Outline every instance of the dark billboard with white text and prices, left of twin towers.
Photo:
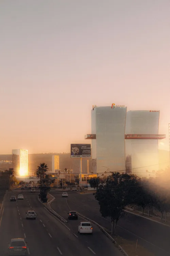
[{"label": "dark billboard with white text and prices, left of twin towers", "polygon": [[71,144],[71,157],[91,157],[91,144]]}]

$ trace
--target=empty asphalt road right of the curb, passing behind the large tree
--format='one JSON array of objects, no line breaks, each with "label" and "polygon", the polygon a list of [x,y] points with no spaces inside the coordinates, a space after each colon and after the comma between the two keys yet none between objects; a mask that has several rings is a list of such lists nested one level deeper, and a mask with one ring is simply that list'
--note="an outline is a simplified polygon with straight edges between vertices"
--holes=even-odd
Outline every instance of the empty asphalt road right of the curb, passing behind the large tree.
[{"label": "empty asphalt road right of the curb, passing behind the large tree", "polygon": [[[51,208],[65,219],[68,211],[74,210],[111,230],[111,220],[101,216],[98,201],[92,193],[68,192],[68,198],[62,198],[62,194],[52,195],[56,199],[51,203]],[[69,223],[73,222],[69,221]],[[134,242],[138,239],[138,243],[155,256],[170,255],[170,227],[127,213],[119,220],[116,234]]]}]

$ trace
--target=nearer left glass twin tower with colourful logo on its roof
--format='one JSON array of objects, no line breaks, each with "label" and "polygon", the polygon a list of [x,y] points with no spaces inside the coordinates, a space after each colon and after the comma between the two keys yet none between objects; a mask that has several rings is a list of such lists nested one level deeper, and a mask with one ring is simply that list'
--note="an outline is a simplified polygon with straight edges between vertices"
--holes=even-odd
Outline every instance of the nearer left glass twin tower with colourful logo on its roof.
[{"label": "nearer left glass twin tower with colourful logo on its roof", "polygon": [[104,173],[125,170],[126,107],[95,107],[91,110],[92,172]]}]

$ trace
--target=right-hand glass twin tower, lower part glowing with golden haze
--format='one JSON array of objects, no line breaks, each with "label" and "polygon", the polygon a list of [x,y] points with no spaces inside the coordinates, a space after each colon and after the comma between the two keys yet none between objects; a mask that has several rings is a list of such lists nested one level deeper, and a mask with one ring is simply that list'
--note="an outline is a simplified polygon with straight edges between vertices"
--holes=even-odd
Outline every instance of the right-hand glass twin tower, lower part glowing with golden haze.
[{"label": "right-hand glass twin tower, lower part glowing with golden haze", "polygon": [[[147,176],[146,170],[151,173],[158,170],[158,140],[151,139],[159,130],[159,111],[136,110],[126,114],[126,134],[146,139],[125,140],[126,171]],[[147,134],[147,136],[145,135]]]}]

